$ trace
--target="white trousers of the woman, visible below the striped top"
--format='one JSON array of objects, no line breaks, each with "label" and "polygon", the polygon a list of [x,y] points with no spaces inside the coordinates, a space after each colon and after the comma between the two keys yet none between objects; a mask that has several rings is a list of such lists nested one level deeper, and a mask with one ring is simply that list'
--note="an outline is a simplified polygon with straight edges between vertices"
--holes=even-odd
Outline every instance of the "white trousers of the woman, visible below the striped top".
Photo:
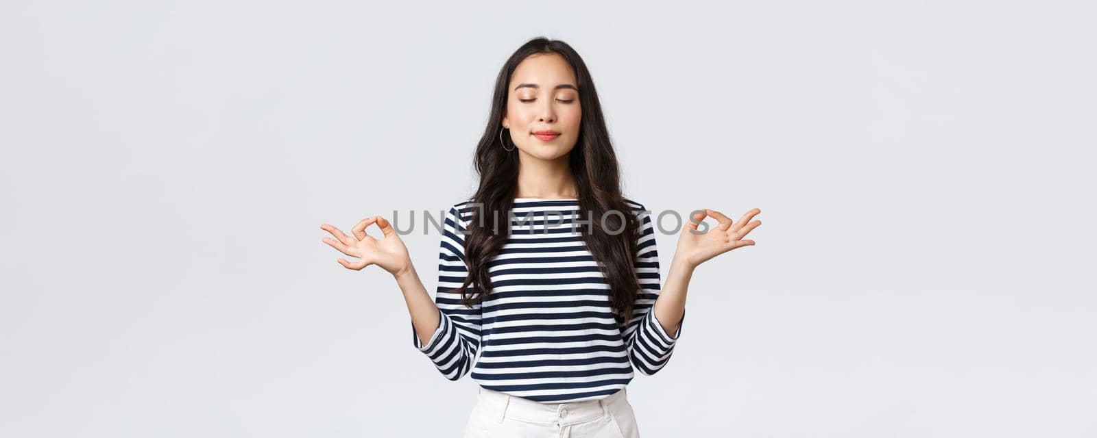
[{"label": "white trousers of the woman, visible below the striped top", "polygon": [[625,388],[601,399],[540,403],[480,387],[465,438],[637,438]]}]

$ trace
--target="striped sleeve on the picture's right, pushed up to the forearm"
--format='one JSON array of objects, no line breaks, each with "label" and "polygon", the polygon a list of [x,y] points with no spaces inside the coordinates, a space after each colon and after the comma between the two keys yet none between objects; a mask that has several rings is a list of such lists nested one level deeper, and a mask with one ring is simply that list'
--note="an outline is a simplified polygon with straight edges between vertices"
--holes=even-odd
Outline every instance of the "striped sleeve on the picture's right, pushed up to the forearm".
[{"label": "striped sleeve on the picture's right, pushed up to the forearm", "polygon": [[681,335],[681,325],[686,321],[682,312],[681,323],[674,335],[670,335],[659,324],[652,311],[655,300],[659,297],[661,278],[659,275],[659,252],[655,243],[655,227],[651,212],[638,212],[640,238],[636,244],[636,274],[640,277],[640,292],[636,295],[633,319],[622,333],[629,358],[645,376],[658,372],[670,360],[675,344]]}]

